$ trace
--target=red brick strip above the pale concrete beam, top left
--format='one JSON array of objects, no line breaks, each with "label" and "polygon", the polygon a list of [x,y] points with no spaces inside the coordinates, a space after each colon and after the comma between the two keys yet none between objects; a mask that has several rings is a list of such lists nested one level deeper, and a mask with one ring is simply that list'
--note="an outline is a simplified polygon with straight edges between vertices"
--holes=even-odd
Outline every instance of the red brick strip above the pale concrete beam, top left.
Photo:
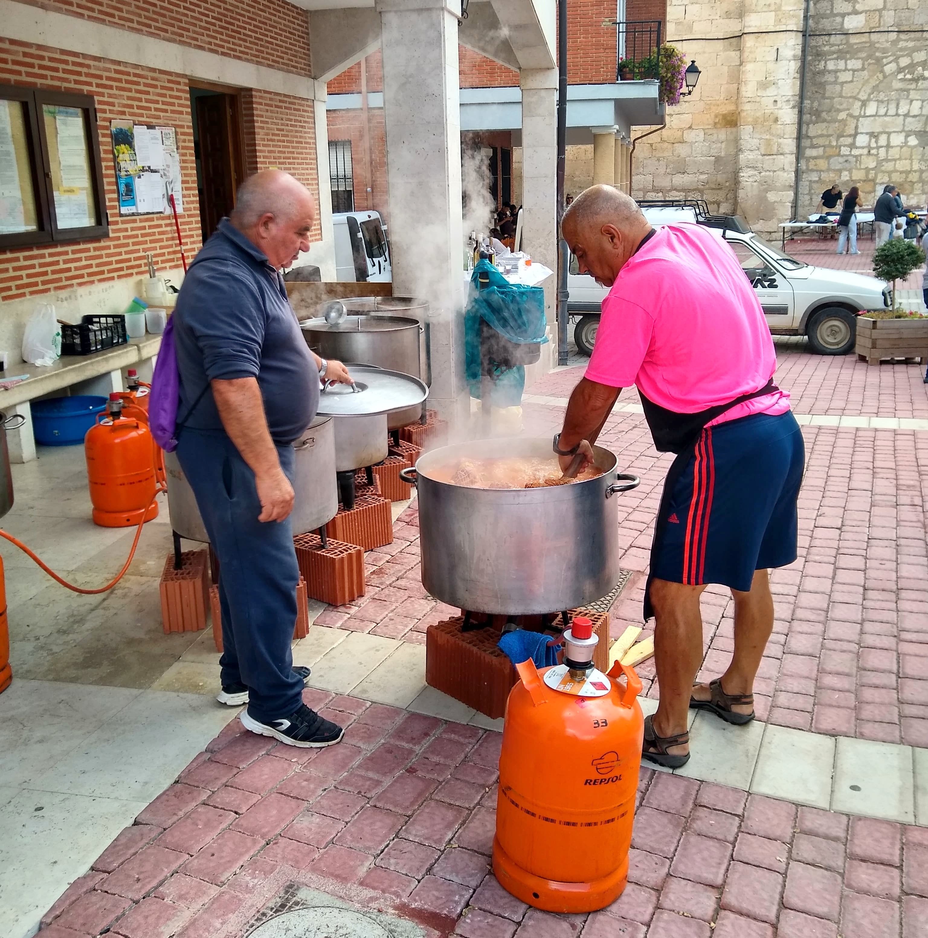
[{"label": "red brick strip above the pale concrete beam, top left", "polygon": [[286,0],[21,0],[194,49],[310,74],[310,21]]}]

